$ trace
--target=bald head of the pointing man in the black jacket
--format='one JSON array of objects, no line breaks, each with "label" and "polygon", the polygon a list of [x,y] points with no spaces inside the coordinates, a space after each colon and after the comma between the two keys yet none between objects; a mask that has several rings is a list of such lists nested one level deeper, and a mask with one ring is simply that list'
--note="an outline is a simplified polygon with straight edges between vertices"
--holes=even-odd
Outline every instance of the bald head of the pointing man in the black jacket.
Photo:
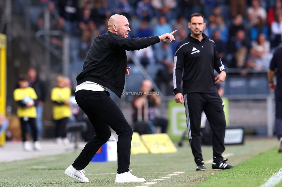
[{"label": "bald head of the pointing man in the black jacket", "polygon": [[130,31],[129,22],[125,16],[115,14],[108,21],[108,30],[120,37],[127,38],[127,34]]}]

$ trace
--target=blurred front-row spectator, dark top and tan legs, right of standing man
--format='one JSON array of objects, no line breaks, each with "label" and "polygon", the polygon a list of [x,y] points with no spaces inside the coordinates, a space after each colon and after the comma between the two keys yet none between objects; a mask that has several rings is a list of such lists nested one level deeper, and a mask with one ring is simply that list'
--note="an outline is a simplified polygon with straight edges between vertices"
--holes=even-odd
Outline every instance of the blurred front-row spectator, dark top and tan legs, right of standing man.
[{"label": "blurred front-row spectator, dark top and tan legs, right of standing man", "polygon": [[238,30],[235,37],[228,43],[228,52],[232,54],[230,68],[243,68],[246,65],[246,57],[251,48],[246,41],[244,30]]}]

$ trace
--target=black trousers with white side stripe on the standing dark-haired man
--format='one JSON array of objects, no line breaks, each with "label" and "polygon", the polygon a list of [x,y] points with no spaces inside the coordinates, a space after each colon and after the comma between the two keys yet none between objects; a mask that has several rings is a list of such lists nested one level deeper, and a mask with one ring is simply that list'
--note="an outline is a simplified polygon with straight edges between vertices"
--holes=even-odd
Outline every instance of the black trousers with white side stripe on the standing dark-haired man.
[{"label": "black trousers with white side stripe on the standing dark-haired man", "polygon": [[223,160],[226,121],[224,103],[218,93],[188,93],[184,95],[187,117],[188,137],[196,164],[203,161],[201,149],[201,113],[204,111],[212,129],[212,148],[214,162]]}]

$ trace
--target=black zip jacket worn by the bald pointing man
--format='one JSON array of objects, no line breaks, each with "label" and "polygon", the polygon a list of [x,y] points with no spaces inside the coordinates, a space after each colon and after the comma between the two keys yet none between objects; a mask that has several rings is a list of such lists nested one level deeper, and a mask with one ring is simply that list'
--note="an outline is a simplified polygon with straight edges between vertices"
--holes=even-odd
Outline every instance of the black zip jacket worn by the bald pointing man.
[{"label": "black zip jacket worn by the bald pointing man", "polygon": [[158,42],[158,36],[126,39],[110,31],[97,36],[88,51],[83,70],[77,76],[77,85],[92,81],[109,88],[121,98],[127,66],[125,50],[139,50]]}]

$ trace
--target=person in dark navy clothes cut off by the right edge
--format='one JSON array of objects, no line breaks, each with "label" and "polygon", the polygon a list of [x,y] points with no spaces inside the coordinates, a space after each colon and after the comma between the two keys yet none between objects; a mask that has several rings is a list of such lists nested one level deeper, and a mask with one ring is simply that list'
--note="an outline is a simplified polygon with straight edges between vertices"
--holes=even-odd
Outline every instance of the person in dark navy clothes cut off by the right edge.
[{"label": "person in dark navy clothes cut off by the right edge", "polygon": [[[276,83],[274,75],[276,72]],[[275,91],[275,129],[279,140],[278,152],[282,152],[282,47],[278,47],[267,72],[269,89]]]}]

